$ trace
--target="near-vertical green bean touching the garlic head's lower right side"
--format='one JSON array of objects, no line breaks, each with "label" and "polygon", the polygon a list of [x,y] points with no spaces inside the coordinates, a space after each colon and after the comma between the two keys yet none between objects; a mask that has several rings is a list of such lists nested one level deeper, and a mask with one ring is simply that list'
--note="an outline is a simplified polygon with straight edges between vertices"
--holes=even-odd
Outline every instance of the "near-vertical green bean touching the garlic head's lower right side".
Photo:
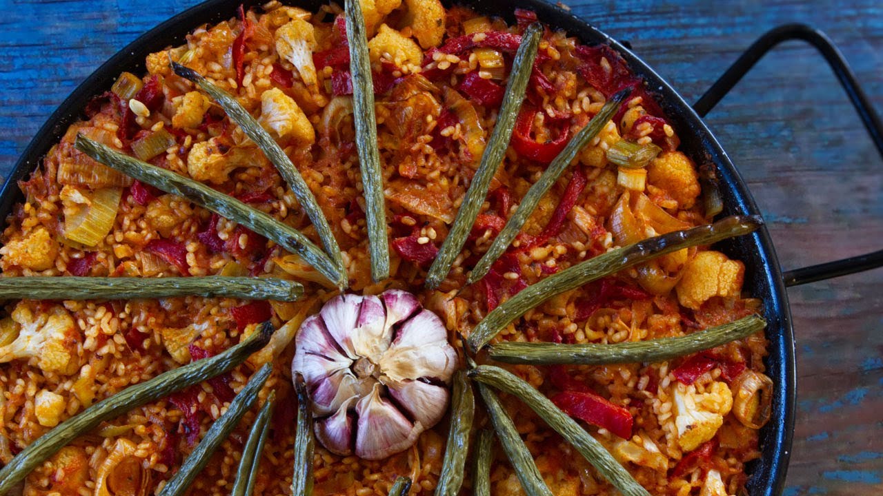
[{"label": "near-vertical green bean touching the garlic head's lower right side", "polygon": [[442,473],[435,485],[435,496],[456,496],[460,493],[474,416],[475,396],[472,394],[471,381],[465,371],[457,371],[454,374],[454,395],[450,401],[448,443],[444,450]]}]

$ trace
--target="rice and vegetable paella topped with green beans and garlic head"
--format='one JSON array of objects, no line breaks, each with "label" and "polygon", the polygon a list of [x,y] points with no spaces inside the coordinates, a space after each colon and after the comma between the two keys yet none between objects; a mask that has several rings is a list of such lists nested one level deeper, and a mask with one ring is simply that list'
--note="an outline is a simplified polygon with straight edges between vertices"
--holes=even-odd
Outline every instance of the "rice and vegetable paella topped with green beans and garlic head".
[{"label": "rice and vegetable paella topped with green beans and garlic head", "polygon": [[20,184],[0,492],[743,492],[759,221],[614,50],[344,7],[196,29]]}]

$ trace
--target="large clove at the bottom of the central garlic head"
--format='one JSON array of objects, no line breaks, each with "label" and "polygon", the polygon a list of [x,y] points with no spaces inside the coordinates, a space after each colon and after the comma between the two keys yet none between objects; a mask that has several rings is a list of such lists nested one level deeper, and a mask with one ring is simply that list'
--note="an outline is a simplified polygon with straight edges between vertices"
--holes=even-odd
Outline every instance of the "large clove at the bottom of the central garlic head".
[{"label": "large clove at the bottom of the central garlic head", "polygon": [[380,383],[375,383],[371,394],[356,403],[356,455],[366,460],[381,460],[411,447],[424,429],[419,422],[411,424],[395,405],[381,398],[380,391]]}]

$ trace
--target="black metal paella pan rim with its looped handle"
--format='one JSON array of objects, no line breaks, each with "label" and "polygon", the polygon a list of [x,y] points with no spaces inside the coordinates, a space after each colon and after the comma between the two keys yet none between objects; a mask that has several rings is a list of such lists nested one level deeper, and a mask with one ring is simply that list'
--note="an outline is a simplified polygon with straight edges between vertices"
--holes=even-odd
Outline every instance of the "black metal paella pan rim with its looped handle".
[{"label": "black metal paella pan rim with its looped handle", "polygon": [[[147,54],[183,43],[185,35],[197,26],[234,17],[239,4],[249,7],[262,3],[263,0],[208,0],[156,26],[110,57],[58,107],[25,149],[0,191],[0,217],[5,218],[11,213],[12,207],[24,199],[17,185],[19,179],[27,177],[36,168],[49,148],[61,139],[67,127],[82,116],[87,101],[95,94],[109,89],[121,71],[143,73]],[[321,2],[295,0],[286,3],[296,3],[308,10],[315,10]],[[883,125],[880,124],[879,117],[874,114],[857,86],[852,71],[840,52],[824,34],[810,27],[781,26],[765,34],[691,107],[630,49],[560,7],[547,4],[543,0],[457,0],[456,3],[471,6],[487,15],[502,16],[509,21],[514,21],[515,8],[530,9],[537,12],[541,21],[564,29],[586,44],[607,43],[619,52],[631,70],[643,77],[648,89],[659,97],[666,115],[678,130],[683,152],[698,163],[713,164],[715,167],[720,180],[724,215],[760,214],[760,211],[733,162],[703,123],[701,116],[705,116],[767,50],[781,41],[800,39],[819,49],[856,107],[875,146],[883,154]],[[721,244],[720,249],[745,262],[744,288],[764,302],[769,323],[766,333],[770,340],[770,355],[766,366],[767,373],[776,386],[774,413],[772,420],[760,433],[763,455],[757,461],[751,462],[748,468],[751,473],[748,490],[752,496],[780,494],[788,469],[796,393],[794,334],[786,287],[880,267],[883,265],[883,251],[783,273],[766,228],[758,230],[750,237],[740,237]]]}]

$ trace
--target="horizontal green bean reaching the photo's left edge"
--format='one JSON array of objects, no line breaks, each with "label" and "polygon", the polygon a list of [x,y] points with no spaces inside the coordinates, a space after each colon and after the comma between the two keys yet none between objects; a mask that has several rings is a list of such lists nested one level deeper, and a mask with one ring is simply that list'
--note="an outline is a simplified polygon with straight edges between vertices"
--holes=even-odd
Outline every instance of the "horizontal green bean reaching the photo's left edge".
[{"label": "horizontal green bean reaching the photo's left edge", "polygon": [[272,277],[0,277],[0,299],[91,300],[197,295],[295,301],[304,287]]}]

